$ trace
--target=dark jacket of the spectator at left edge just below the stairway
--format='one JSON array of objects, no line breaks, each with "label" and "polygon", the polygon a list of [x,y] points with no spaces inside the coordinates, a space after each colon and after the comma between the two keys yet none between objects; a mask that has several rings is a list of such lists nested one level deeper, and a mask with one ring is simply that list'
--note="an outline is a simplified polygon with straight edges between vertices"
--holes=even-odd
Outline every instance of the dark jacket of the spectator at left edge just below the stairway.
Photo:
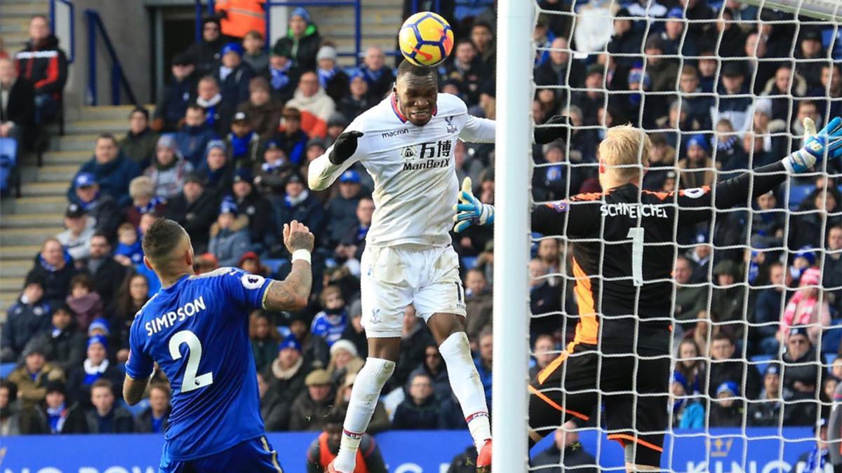
[{"label": "dark jacket of the spectator at left edge just below the stairway", "polygon": [[3,363],[16,363],[33,337],[50,330],[50,304],[43,299],[24,304],[18,299],[8,308],[6,317],[0,337],[0,359]]}]

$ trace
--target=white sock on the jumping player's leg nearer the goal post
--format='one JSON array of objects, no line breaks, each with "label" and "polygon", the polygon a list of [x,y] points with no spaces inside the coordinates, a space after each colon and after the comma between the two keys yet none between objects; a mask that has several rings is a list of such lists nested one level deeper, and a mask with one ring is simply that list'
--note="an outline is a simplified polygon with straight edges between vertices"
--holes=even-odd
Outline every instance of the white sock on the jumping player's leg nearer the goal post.
[{"label": "white sock on the jumping player's leg nearer the goal post", "polygon": [[459,400],[478,452],[485,441],[491,438],[491,425],[488,422],[485,391],[482,389],[477,367],[471,359],[471,345],[465,332],[456,332],[447,337],[441,343],[439,352],[447,364],[450,389]]}]

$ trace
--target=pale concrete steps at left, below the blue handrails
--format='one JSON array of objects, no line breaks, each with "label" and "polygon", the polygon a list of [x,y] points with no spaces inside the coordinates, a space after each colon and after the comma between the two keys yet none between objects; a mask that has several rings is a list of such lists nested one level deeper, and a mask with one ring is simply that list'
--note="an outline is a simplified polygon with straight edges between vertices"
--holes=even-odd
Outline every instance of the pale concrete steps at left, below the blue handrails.
[{"label": "pale concrete steps at left, below the blue handrails", "polygon": [[4,199],[0,213],[0,316],[19,295],[40,244],[63,230],[67,188],[77,169],[93,156],[95,136],[108,131],[120,138],[128,128],[130,110],[124,105],[68,111],[65,136],[58,136],[56,125],[51,125],[43,166],[37,166],[33,154],[21,160],[21,198]]}]

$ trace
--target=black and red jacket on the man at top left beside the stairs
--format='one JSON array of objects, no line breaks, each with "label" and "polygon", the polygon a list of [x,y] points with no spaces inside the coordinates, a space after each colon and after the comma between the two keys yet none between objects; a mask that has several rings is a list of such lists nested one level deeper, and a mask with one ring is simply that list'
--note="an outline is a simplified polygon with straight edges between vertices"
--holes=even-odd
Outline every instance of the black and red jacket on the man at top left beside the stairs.
[{"label": "black and red jacket on the man at top left beside the stairs", "polygon": [[40,45],[26,43],[16,54],[20,77],[33,83],[35,94],[50,94],[59,98],[67,82],[67,56],[58,47],[58,38],[49,35]]}]

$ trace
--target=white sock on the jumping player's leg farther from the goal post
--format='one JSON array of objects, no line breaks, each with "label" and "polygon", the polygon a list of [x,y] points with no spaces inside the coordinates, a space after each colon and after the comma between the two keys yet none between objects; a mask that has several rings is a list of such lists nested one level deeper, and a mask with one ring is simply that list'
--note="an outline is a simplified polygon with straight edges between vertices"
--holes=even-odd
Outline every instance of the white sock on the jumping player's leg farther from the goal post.
[{"label": "white sock on the jumping player's leg farther from the goal post", "polygon": [[383,385],[392,376],[395,362],[388,359],[369,358],[365,366],[357,373],[354,387],[351,389],[351,400],[343,423],[342,441],[339,443],[339,453],[333,461],[333,467],[342,473],[353,473],[356,467],[357,449],[360,439],[368,428],[371,414],[377,405]]}]

